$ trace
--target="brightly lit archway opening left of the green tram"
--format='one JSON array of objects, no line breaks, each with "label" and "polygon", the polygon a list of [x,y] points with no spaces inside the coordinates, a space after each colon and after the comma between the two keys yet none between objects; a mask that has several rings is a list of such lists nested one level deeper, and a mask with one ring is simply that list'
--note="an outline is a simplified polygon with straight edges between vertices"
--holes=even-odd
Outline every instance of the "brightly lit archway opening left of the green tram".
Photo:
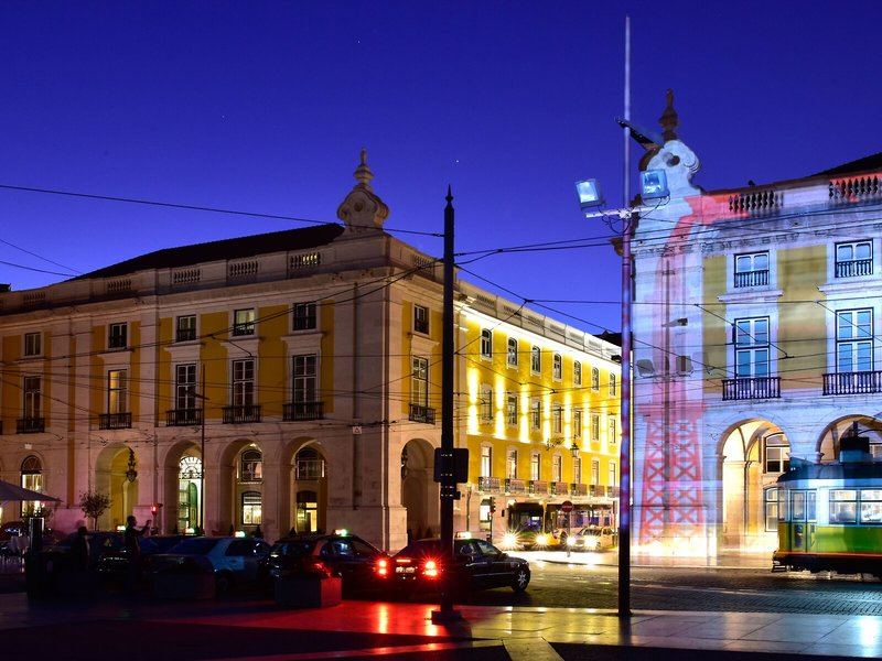
[{"label": "brightly lit archway opening left of the green tram", "polygon": [[724,427],[717,440],[713,475],[721,486],[718,548],[775,549],[777,537],[770,521],[776,517],[770,514],[767,501],[789,466],[790,447],[786,431],[774,420],[744,418]]}]

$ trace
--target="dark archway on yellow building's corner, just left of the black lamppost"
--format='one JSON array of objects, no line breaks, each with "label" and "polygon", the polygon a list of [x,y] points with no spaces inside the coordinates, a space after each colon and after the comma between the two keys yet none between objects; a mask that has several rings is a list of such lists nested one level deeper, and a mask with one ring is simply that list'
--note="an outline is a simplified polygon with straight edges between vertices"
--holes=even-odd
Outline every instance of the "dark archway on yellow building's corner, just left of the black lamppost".
[{"label": "dark archway on yellow building's corner, just left of the black lamppost", "polygon": [[439,487],[434,481],[434,447],[424,438],[411,438],[401,448],[401,506],[407,511],[408,538],[440,533]]}]

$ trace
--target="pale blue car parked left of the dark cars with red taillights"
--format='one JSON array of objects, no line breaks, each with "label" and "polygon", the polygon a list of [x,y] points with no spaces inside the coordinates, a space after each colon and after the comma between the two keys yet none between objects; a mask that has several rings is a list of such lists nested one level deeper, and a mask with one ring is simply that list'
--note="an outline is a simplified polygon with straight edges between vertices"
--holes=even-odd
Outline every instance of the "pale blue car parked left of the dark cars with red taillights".
[{"label": "pale blue car parked left of the dark cars with red taillights", "polygon": [[168,553],[150,559],[150,574],[179,571],[180,565],[204,564],[214,568],[217,592],[257,584],[260,562],[269,555],[270,545],[257,538],[195,537],[179,542]]}]

